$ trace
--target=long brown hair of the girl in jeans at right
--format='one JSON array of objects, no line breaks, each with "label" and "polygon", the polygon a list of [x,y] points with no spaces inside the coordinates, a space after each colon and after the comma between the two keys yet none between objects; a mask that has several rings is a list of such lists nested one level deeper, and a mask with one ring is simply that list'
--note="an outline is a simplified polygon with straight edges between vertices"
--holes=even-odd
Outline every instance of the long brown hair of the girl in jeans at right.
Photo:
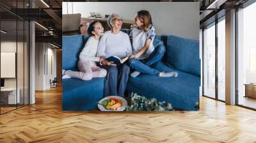
[{"label": "long brown hair of the girl in jeans at right", "polygon": [[137,16],[143,20],[143,26],[141,26],[141,28],[143,31],[146,32],[148,30],[148,27],[150,26],[150,24],[153,24],[149,11],[147,11],[147,10],[138,11]]}]

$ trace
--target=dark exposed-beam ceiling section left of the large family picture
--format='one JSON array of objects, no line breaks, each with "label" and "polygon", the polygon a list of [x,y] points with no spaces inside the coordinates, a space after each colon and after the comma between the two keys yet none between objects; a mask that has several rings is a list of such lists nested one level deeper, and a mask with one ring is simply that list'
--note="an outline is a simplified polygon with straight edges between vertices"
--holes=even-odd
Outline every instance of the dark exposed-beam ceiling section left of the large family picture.
[{"label": "dark exposed-beam ceiling section left of the large family picture", "polygon": [[12,39],[23,35],[20,22],[17,22],[18,29],[16,27],[17,19],[35,20],[36,41],[51,42],[61,47],[61,4],[61,0],[30,0],[30,3],[29,0],[1,0],[1,29],[7,32],[4,37]]}]

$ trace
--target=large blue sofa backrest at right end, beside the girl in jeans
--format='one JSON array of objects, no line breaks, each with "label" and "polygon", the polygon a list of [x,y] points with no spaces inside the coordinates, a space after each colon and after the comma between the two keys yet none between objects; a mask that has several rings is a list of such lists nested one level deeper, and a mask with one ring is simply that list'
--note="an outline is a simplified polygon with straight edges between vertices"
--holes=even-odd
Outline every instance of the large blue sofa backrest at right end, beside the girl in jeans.
[{"label": "large blue sofa backrest at right end, beside the girl in jeans", "polygon": [[200,77],[199,41],[168,36],[166,64]]}]

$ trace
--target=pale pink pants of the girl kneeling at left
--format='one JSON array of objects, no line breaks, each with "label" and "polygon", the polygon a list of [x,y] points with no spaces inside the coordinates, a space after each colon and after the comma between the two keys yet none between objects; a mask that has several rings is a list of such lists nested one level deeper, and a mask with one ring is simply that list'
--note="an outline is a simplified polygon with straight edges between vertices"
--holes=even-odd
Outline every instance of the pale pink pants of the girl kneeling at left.
[{"label": "pale pink pants of the girl kneeling at left", "polygon": [[91,80],[93,77],[106,77],[107,75],[107,71],[97,66],[94,61],[79,60],[77,68],[80,72],[67,70],[65,75],[82,80]]}]

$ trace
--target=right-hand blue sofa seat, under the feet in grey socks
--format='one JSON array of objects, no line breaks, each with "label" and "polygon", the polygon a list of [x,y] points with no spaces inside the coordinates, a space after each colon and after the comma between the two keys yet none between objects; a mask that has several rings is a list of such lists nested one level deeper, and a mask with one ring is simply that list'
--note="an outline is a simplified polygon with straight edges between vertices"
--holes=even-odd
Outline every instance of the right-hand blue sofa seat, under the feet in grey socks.
[{"label": "right-hand blue sofa seat, under the feet in grey socks", "polygon": [[[160,71],[172,72],[163,63],[157,64]],[[172,103],[177,109],[195,110],[195,103],[199,102],[200,77],[180,72],[178,77],[156,77],[141,74],[138,77],[129,77],[127,90],[157,101]]]}]

